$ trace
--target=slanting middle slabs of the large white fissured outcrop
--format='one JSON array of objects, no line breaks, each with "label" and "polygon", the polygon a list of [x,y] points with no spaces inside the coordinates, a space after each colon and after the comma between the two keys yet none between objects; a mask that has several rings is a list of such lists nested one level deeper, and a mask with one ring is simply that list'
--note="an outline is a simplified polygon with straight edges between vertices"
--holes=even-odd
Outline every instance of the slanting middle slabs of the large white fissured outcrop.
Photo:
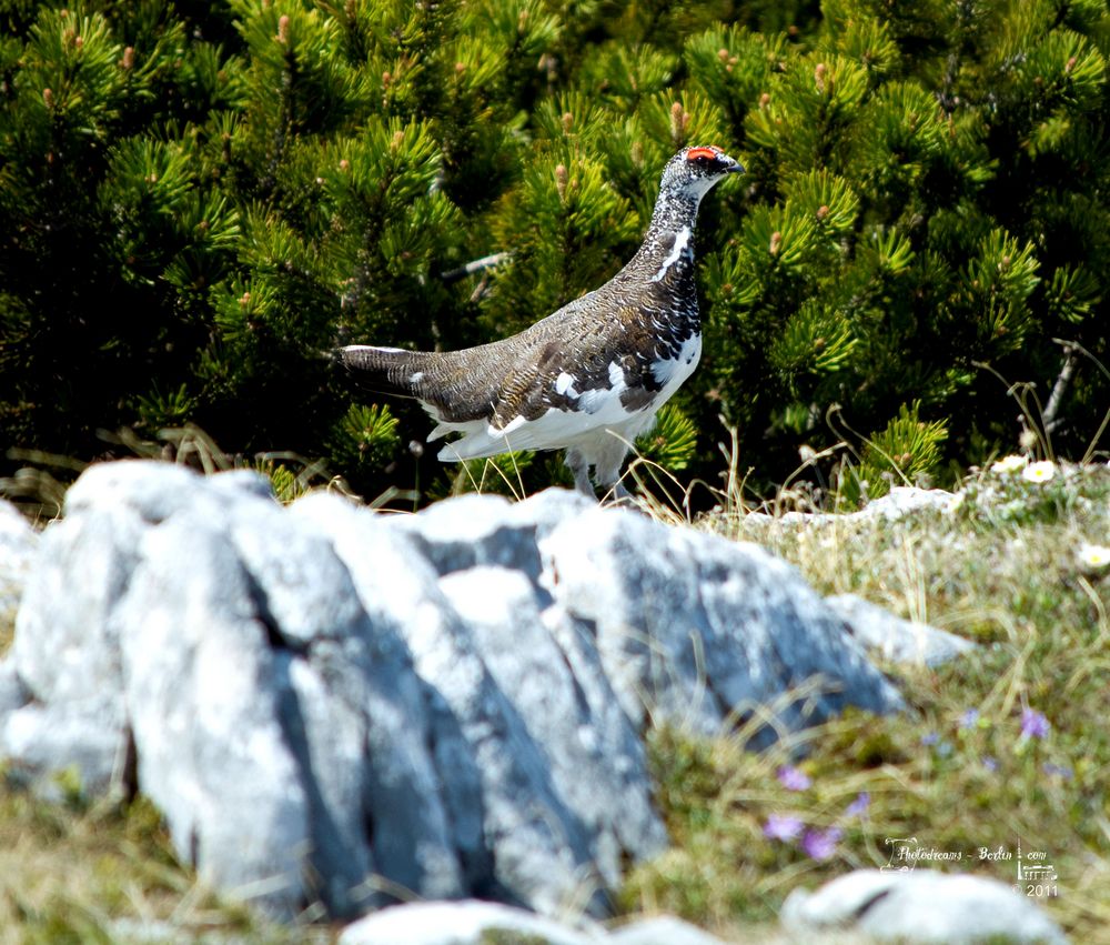
[{"label": "slanting middle slabs of the large white fissured outcrop", "polygon": [[[299,502],[293,513],[331,535],[367,612],[404,636],[432,694],[442,777],[457,788],[450,804],[466,830],[458,843],[486,871],[483,882],[545,912],[605,912],[601,891],[619,881],[622,856],[643,858],[666,840],[643,745],[612,695],[583,704],[573,654],[546,629],[559,614],[527,577],[539,561],[527,526],[497,517],[509,513],[504,500],[460,504],[478,510],[463,520],[478,533],[473,542],[460,527],[442,531],[445,513],[427,533],[414,524],[423,516],[395,529],[332,496]],[[501,550],[490,535],[501,536]]]}]

